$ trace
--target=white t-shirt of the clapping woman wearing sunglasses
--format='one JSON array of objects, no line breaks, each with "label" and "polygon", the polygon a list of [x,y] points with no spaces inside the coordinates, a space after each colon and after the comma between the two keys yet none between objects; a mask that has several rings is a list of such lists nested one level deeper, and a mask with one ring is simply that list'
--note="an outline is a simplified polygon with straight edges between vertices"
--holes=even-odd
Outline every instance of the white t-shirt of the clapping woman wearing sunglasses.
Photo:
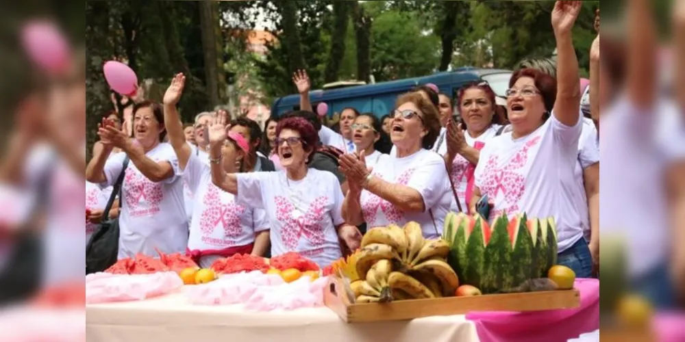
[{"label": "white t-shirt of the clapping woman wearing sunglasses", "polygon": [[454,203],[447,180],[445,159],[429,150],[419,150],[408,157],[388,157],[377,163],[373,175],[389,183],[406,185],[421,194],[425,211],[404,213],[395,205],[364,190],[360,198],[364,222],[369,228],[417,222],[427,238],[443,234],[445,216]]}]

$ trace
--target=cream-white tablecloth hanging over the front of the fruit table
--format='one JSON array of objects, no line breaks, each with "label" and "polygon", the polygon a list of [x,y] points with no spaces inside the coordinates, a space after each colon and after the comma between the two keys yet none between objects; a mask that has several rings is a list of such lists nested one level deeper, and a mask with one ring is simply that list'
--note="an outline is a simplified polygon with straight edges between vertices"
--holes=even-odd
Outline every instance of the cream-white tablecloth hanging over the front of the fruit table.
[{"label": "cream-white tablecloth hanging over the front of the fruit table", "polygon": [[88,342],[469,342],[464,316],[346,324],[328,308],[253,313],[242,306],[193,306],[181,293],[142,302],[86,306]]}]

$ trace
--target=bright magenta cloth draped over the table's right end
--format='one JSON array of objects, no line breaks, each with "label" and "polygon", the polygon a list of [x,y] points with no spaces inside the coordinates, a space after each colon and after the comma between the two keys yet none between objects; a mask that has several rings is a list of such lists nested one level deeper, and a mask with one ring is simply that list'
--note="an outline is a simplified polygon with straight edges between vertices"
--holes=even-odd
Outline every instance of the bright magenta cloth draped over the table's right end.
[{"label": "bright magenta cloth draped over the table's right end", "polygon": [[577,279],[580,308],[527,313],[471,313],[481,342],[557,342],[599,329],[599,280]]}]

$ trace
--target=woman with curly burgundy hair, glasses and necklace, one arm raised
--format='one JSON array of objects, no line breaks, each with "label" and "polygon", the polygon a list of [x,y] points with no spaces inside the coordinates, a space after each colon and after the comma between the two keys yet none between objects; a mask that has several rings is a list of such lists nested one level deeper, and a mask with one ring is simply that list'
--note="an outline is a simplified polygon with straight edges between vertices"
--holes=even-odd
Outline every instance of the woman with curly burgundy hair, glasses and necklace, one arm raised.
[{"label": "woman with curly burgundy hair, glasses and necklace, one arm raised", "polygon": [[284,170],[228,173],[223,168],[222,146],[227,139],[225,120],[210,128],[210,163],[214,184],[236,195],[247,207],[264,209],[271,227],[271,255],[298,252],[321,267],[342,257],[338,238],[356,250],[361,235],[340,215],[343,192],[331,173],[307,166],[319,135],[303,118],[278,122],[276,148]]}]

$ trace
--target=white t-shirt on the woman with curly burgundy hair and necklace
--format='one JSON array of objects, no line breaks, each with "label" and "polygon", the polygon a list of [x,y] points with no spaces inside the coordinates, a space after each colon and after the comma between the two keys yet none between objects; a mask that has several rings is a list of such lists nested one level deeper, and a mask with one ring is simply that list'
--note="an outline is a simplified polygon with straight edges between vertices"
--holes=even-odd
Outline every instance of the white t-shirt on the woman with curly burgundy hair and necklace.
[{"label": "white t-shirt on the woman with curly burgundy hair and necklace", "polygon": [[343,191],[336,176],[310,168],[292,181],[285,171],[236,174],[238,202],[264,209],[271,226],[271,255],[298,252],[320,267],[342,257],[336,227]]}]

